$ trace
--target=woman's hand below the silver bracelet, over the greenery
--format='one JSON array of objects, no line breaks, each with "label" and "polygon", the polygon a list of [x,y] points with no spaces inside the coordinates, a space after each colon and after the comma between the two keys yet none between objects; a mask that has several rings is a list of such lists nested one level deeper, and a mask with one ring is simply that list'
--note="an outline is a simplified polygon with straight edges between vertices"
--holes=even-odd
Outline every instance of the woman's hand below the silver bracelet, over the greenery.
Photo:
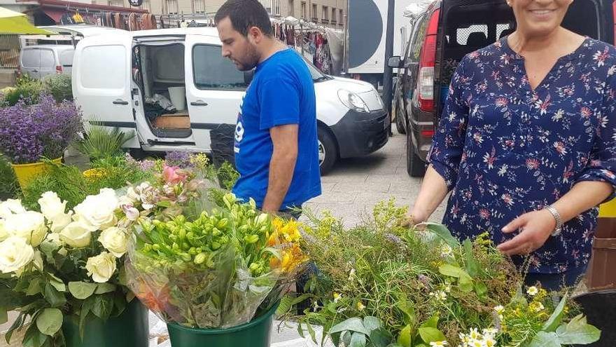
[{"label": "woman's hand below the silver bracelet, over the greenery", "polygon": [[511,240],[498,245],[498,250],[507,255],[528,254],[538,250],[556,228],[556,219],[548,210],[528,212],[514,219],[503,228],[503,233],[520,233]]}]

